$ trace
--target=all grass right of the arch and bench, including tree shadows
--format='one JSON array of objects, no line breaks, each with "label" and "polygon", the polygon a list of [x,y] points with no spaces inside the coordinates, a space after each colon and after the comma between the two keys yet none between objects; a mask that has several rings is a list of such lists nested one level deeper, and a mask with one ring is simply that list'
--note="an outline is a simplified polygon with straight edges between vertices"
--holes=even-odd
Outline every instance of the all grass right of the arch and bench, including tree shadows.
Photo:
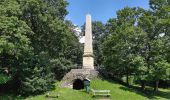
[{"label": "all grass right of the arch and bench, including tree shadows", "polygon": [[141,91],[138,86],[124,86],[114,81],[95,80],[92,81],[94,89],[111,90],[112,100],[146,100],[146,99],[168,99],[170,100],[170,89],[159,89],[154,92],[153,88],[146,87],[145,91]]}]

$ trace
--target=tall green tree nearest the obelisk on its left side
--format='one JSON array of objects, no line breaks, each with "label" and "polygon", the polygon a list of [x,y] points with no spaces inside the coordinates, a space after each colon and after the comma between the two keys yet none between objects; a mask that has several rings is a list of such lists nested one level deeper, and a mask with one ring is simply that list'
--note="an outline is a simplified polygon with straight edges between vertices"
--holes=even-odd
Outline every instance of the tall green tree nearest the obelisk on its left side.
[{"label": "tall green tree nearest the obelisk on its left side", "polygon": [[[21,18],[35,33],[29,37],[32,41],[34,51],[38,55],[41,52],[48,53],[50,56],[49,60],[66,59],[73,63],[80,63],[78,62],[80,61],[78,57],[81,54],[81,49],[79,49],[80,44],[78,37],[74,31],[72,31],[72,26],[69,26],[60,18],[66,14],[64,10],[65,6],[53,7],[56,4],[62,6],[64,3],[65,5],[65,1],[55,1],[56,2],[45,1],[44,3],[42,0],[27,0],[21,2],[24,12]],[[58,3],[61,3],[61,5]],[[52,6],[49,6],[50,4]],[[60,10],[62,11],[59,15],[54,14],[55,11]],[[59,66],[56,66],[56,68],[59,68]],[[58,78],[61,77],[59,76]]]}]

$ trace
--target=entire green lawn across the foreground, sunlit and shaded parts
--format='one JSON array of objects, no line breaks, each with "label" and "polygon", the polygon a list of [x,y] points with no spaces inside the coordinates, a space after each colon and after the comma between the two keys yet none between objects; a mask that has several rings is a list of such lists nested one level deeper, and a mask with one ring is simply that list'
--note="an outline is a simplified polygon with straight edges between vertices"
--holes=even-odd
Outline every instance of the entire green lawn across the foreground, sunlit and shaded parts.
[{"label": "entire green lawn across the foreground, sunlit and shaded parts", "polygon": [[[56,87],[59,83],[56,83]],[[92,80],[91,88],[93,89],[104,89],[111,90],[110,100],[146,100],[146,99],[170,99],[170,89],[159,89],[159,92],[153,92],[150,87],[147,87],[146,91],[140,91],[137,87],[126,87],[124,85],[118,84],[113,81],[96,79]],[[49,97],[46,95],[49,93]],[[57,95],[60,95],[57,98]],[[2,96],[2,95],[0,95]],[[8,97],[8,98],[2,98]],[[9,99],[10,96],[3,95],[0,100],[18,100],[21,97],[16,97],[16,99]],[[14,97],[13,97],[14,98]],[[57,87],[53,91],[46,92],[42,95],[30,96],[26,100],[103,100],[103,97],[92,98],[91,93],[88,94],[84,90],[73,90],[69,88],[59,88]]]}]

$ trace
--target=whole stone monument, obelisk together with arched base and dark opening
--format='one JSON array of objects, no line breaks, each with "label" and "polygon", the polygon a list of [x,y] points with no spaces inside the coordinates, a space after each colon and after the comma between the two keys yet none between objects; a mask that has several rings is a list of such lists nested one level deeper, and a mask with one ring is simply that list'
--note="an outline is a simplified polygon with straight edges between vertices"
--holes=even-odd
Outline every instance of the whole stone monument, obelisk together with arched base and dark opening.
[{"label": "whole stone monument, obelisk together with arched base and dark opening", "polygon": [[85,79],[94,79],[98,71],[94,69],[93,46],[92,46],[92,25],[91,15],[86,15],[85,43],[82,69],[71,69],[62,79],[62,87],[83,89]]}]

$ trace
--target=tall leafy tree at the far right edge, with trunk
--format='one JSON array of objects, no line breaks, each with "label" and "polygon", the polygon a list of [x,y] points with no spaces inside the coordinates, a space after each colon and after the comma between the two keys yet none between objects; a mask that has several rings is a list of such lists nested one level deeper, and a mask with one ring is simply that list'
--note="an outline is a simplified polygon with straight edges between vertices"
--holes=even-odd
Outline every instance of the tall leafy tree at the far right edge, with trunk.
[{"label": "tall leafy tree at the far right edge, with trunk", "polygon": [[[159,79],[162,79],[161,75],[157,79],[155,72],[158,69],[158,66],[162,65],[158,63],[169,63],[168,60],[168,48],[170,47],[169,41],[169,15],[168,15],[168,6],[169,2],[167,0],[150,0],[150,10],[145,11],[139,18],[139,26],[147,32],[148,40],[146,41],[145,48],[145,61],[147,63],[148,76],[153,78],[148,78],[152,81],[155,81],[155,91],[158,90]],[[163,61],[163,62],[162,62]],[[168,62],[166,62],[168,61]],[[155,66],[158,65],[158,66]],[[162,70],[166,70],[165,67]],[[167,75],[165,71],[162,71],[164,75]],[[159,73],[160,74],[160,73]],[[154,80],[156,78],[156,80]]]}]

